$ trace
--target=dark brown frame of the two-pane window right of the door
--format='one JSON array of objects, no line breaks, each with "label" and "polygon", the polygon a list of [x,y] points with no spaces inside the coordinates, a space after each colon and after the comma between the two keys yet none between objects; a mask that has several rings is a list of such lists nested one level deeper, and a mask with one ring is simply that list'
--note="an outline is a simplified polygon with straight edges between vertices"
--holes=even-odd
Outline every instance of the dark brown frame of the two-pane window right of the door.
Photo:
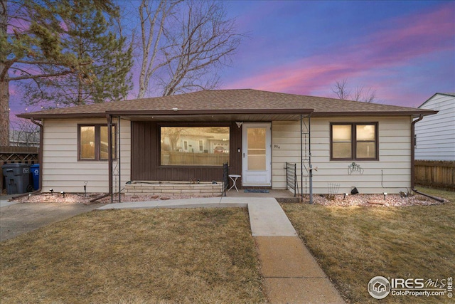
[{"label": "dark brown frame of the two-pane window right of the door", "polygon": [[[334,125],[350,125],[350,136],[352,138],[350,142],[351,156],[340,158],[333,157],[333,126]],[[357,126],[358,125],[373,125],[375,127],[375,157],[365,158],[365,157],[356,157],[357,155],[357,143],[358,142],[373,142],[365,140],[357,140]],[[356,160],[356,161],[379,161],[379,122],[331,122],[330,123],[330,160],[331,161],[346,161],[346,160]]]}]

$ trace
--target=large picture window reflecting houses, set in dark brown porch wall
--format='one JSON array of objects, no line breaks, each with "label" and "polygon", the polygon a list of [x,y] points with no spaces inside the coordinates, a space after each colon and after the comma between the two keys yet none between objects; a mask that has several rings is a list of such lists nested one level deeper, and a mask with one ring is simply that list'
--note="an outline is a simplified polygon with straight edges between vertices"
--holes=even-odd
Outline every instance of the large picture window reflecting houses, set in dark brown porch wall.
[{"label": "large picture window reflecting houses, set in dark brown porch wall", "polygon": [[161,166],[223,166],[229,127],[161,127]]}]

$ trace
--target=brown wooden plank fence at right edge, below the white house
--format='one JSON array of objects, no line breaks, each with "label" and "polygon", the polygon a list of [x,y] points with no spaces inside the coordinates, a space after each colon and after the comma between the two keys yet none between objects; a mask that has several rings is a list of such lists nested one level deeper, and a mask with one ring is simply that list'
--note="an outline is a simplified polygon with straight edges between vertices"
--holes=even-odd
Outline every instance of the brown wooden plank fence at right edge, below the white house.
[{"label": "brown wooden plank fence at right edge, below the white house", "polygon": [[414,168],[416,184],[455,191],[455,162],[416,160]]}]

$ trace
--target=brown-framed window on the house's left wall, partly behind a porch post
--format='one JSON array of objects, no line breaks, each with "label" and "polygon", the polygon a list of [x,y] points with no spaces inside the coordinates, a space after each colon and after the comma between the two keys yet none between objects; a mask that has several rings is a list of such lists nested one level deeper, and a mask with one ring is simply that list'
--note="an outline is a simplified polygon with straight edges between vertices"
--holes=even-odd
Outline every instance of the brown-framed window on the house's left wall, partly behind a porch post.
[{"label": "brown-framed window on the house's left wall, partly behind a porch post", "polygon": [[[77,125],[78,160],[109,159],[107,125]],[[112,159],[116,159],[115,125],[112,126]]]}]

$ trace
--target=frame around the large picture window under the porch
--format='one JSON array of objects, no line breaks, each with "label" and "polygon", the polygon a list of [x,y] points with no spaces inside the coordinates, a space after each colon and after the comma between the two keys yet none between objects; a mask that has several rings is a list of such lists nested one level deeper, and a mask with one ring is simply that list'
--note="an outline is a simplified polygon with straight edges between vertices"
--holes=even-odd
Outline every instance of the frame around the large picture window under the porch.
[{"label": "frame around the large picture window under the porch", "polygon": [[[205,124],[205,123],[196,123],[196,124],[193,124],[193,123],[188,123],[188,124],[181,124],[181,123],[162,123],[162,124],[158,124],[157,125],[157,128],[156,128],[156,142],[158,143],[158,157],[157,157],[157,167],[161,167],[161,168],[177,168],[177,167],[181,167],[181,168],[221,168],[223,167],[223,164],[220,164],[219,166],[215,166],[215,165],[207,165],[207,166],[203,166],[203,165],[185,165],[185,164],[161,164],[161,128],[162,127],[228,127],[229,129],[229,147],[231,145],[231,139],[232,139],[232,125],[228,124],[228,123],[218,123],[218,124]],[[231,153],[231,149],[229,150],[229,161],[228,163],[230,164],[231,163],[231,157],[232,157],[232,153]]]}]

